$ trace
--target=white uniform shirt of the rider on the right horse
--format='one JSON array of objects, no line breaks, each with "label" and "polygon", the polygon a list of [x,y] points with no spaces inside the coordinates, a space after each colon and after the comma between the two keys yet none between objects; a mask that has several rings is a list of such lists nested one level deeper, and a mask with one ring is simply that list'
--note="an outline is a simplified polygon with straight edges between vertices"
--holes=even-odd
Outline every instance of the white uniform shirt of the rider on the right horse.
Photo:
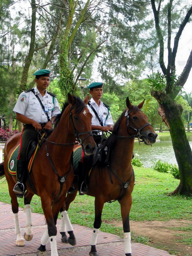
[{"label": "white uniform shirt of the rider on the right horse", "polygon": [[[107,126],[107,125],[113,125],[113,119],[112,119],[112,116],[111,116],[111,112],[108,110],[108,108],[106,108],[104,105],[103,105],[103,102],[100,101],[100,105],[98,106],[97,103],[94,101],[93,98],[91,98],[90,100],[90,104],[93,106],[93,108],[96,110],[97,112],[97,115],[99,116],[99,118],[101,119],[101,121],[103,122],[103,125],[104,126]],[[101,124],[99,123],[99,120],[98,118],[96,117],[94,111],[89,107],[89,105],[87,105],[90,113],[92,114],[92,121],[91,121],[91,124],[92,125],[99,125],[101,126]],[[108,115],[108,112],[109,112],[109,115]]]}]

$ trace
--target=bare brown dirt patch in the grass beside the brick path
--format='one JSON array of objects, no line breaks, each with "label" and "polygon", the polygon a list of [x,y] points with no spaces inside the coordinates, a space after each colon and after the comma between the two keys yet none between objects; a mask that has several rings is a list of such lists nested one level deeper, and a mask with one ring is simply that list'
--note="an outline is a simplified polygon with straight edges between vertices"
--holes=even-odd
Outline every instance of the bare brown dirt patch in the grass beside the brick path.
[{"label": "bare brown dirt patch in the grass beside the brick path", "polygon": [[[115,227],[122,227],[122,222],[113,220],[110,222]],[[188,220],[169,221],[130,221],[131,232],[136,236],[147,237],[149,246],[168,251],[170,254],[180,256],[192,256],[192,247],[177,242],[185,231],[172,230],[172,228],[187,227],[192,225]]]}]

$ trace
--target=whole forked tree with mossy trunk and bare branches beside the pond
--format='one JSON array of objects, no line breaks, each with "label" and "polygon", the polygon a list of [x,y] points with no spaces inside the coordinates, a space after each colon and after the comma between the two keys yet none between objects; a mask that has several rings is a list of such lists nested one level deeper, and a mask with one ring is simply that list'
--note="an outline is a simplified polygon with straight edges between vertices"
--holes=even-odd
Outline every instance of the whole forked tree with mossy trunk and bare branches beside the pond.
[{"label": "whole forked tree with mossy trunk and bare branches beside the pond", "polygon": [[[178,2],[179,3],[179,2]],[[184,86],[191,67],[192,67],[192,50],[189,54],[189,58],[184,67],[183,72],[177,78],[175,75],[175,60],[178,50],[179,39],[182,35],[182,32],[186,24],[190,21],[192,14],[192,6],[188,7],[188,10],[182,15],[182,12],[186,10],[185,8],[177,9],[176,13],[173,13],[173,10],[177,5],[173,5],[173,0],[169,0],[168,3],[164,6],[163,2],[160,0],[156,7],[156,1],[151,0],[151,6],[154,14],[155,29],[159,43],[159,64],[162,70],[162,76],[165,79],[166,83],[163,90],[153,90],[152,96],[156,98],[159,104],[159,114],[164,119],[164,122],[167,123],[172,145],[177,159],[179,171],[180,171],[180,183],[175,191],[172,194],[182,194],[182,195],[192,195],[192,151],[187,140],[184,124],[182,122],[181,114],[182,107],[175,101],[175,97],[180,92],[181,88]],[[179,13],[180,12],[180,13]],[[163,14],[166,13],[166,19]],[[180,14],[180,15],[179,15]],[[179,18],[182,18],[182,21],[179,24]],[[167,24],[167,28],[163,27],[163,24]],[[171,45],[171,37],[173,34],[173,29],[178,25],[176,35],[174,38],[173,46]],[[164,37],[164,31],[167,31],[167,38]],[[165,66],[165,42],[167,42],[168,58],[167,58],[167,67]],[[155,78],[154,78],[155,80]],[[157,89],[154,88],[154,89]]]}]

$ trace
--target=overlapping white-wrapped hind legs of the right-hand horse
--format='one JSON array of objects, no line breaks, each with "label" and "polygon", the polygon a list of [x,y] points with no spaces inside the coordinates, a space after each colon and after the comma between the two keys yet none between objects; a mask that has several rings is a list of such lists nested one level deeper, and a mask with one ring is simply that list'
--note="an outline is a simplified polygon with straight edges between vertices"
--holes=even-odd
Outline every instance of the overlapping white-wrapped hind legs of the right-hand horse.
[{"label": "overlapping white-wrapped hind legs of the right-hand horse", "polygon": [[[62,206],[61,207],[61,225],[60,225],[60,234],[61,234],[61,241],[63,243],[69,243],[72,246],[75,246],[76,244],[76,239],[75,239],[75,235],[73,233],[73,227],[71,225],[71,222],[69,220],[68,214],[67,214],[67,210],[69,209],[69,205],[71,204],[71,202],[73,202],[73,200],[76,197],[76,193],[72,193],[72,194],[67,194],[67,197],[65,199],[65,203],[64,205],[66,205],[65,207]],[[67,237],[66,235],[66,230],[69,234],[69,237]]]}]

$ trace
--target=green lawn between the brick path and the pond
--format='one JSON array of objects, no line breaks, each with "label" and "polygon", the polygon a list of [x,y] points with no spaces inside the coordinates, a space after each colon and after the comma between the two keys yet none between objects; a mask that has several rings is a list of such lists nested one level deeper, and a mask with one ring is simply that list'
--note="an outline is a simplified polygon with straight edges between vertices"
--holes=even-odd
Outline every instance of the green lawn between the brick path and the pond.
[{"label": "green lawn between the brick path and the pond", "polygon": [[[192,197],[168,196],[169,192],[175,190],[179,180],[173,178],[169,173],[158,173],[152,168],[134,167],[135,187],[132,193],[133,204],[130,219],[134,221],[168,221],[192,220]],[[10,203],[7,182],[0,181],[0,200]],[[18,199],[20,207],[23,207],[23,199]],[[33,212],[43,213],[40,198],[34,196],[31,201]],[[93,227],[94,222],[94,198],[90,196],[79,196],[75,198],[68,210],[72,224]],[[121,221],[120,205],[118,202],[105,203],[102,213],[101,231],[117,234],[122,237],[123,229],[114,227],[110,221]],[[187,234],[191,233],[191,227]],[[147,242],[145,237],[138,238],[140,242]],[[185,237],[183,238],[185,240]],[[137,240],[137,242],[139,242]],[[187,241],[186,241],[187,243]],[[192,245],[192,244],[191,244]]]}]

